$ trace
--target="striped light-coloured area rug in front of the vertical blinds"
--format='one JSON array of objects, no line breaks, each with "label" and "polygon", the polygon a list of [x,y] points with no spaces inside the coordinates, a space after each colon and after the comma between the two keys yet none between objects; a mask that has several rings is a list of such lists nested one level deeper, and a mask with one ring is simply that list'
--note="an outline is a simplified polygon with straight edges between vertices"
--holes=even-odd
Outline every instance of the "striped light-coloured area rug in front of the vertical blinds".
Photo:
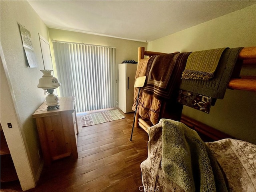
[{"label": "striped light-coloured area rug in front of the vertical blinds", "polygon": [[123,118],[124,116],[119,112],[118,109],[81,116],[83,127],[110,122],[110,121],[123,119]]}]

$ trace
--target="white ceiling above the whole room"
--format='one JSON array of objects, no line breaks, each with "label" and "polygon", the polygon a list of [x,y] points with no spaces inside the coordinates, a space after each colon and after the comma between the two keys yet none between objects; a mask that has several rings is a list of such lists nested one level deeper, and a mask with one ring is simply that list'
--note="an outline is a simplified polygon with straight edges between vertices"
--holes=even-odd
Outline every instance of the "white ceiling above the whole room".
[{"label": "white ceiling above the whole room", "polygon": [[255,0],[29,0],[50,28],[150,42]]}]

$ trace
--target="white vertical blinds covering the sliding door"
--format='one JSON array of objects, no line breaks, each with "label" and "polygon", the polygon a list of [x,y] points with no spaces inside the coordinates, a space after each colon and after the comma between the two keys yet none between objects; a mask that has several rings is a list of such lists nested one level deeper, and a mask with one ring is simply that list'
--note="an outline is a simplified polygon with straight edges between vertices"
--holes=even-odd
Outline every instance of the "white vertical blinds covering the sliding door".
[{"label": "white vertical blinds covering the sliding door", "polygon": [[52,42],[60,96],[75,96],[77,112],[112,108],[116,102],[116,49]]}]

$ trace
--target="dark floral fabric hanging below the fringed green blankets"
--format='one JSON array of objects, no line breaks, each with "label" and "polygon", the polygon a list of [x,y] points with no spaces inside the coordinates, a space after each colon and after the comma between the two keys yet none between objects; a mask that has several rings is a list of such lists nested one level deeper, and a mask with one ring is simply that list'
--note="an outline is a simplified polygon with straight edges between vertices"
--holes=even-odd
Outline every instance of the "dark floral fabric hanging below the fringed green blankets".
[{"label": "dark floral fabric hanging below the fringed green blankets", "polygon": [[210,112],[210,107],[212,105],[212,102],[215,101],[215,98],[211,98],[209,96],[204,96],[202,94],[185,91],[185,90],[179,90],[178,94],[178,102],[192,107],[194,109],[200,110],[205,113]]}]

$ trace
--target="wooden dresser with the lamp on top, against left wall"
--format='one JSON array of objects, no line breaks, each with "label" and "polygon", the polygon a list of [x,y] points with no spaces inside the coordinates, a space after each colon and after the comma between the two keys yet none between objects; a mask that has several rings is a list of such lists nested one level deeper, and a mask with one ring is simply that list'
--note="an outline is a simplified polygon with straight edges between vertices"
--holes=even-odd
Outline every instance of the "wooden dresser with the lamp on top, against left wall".
[{"label": "wooden dresser with the lamp on top, against left wall", "polygon": [[52,160],[67,156],[78,158],[75,97],[61,97],[59,100],[60,109],[47,111],[47,105],[44,102],[32,115],[36,119],[46,166]]}]

